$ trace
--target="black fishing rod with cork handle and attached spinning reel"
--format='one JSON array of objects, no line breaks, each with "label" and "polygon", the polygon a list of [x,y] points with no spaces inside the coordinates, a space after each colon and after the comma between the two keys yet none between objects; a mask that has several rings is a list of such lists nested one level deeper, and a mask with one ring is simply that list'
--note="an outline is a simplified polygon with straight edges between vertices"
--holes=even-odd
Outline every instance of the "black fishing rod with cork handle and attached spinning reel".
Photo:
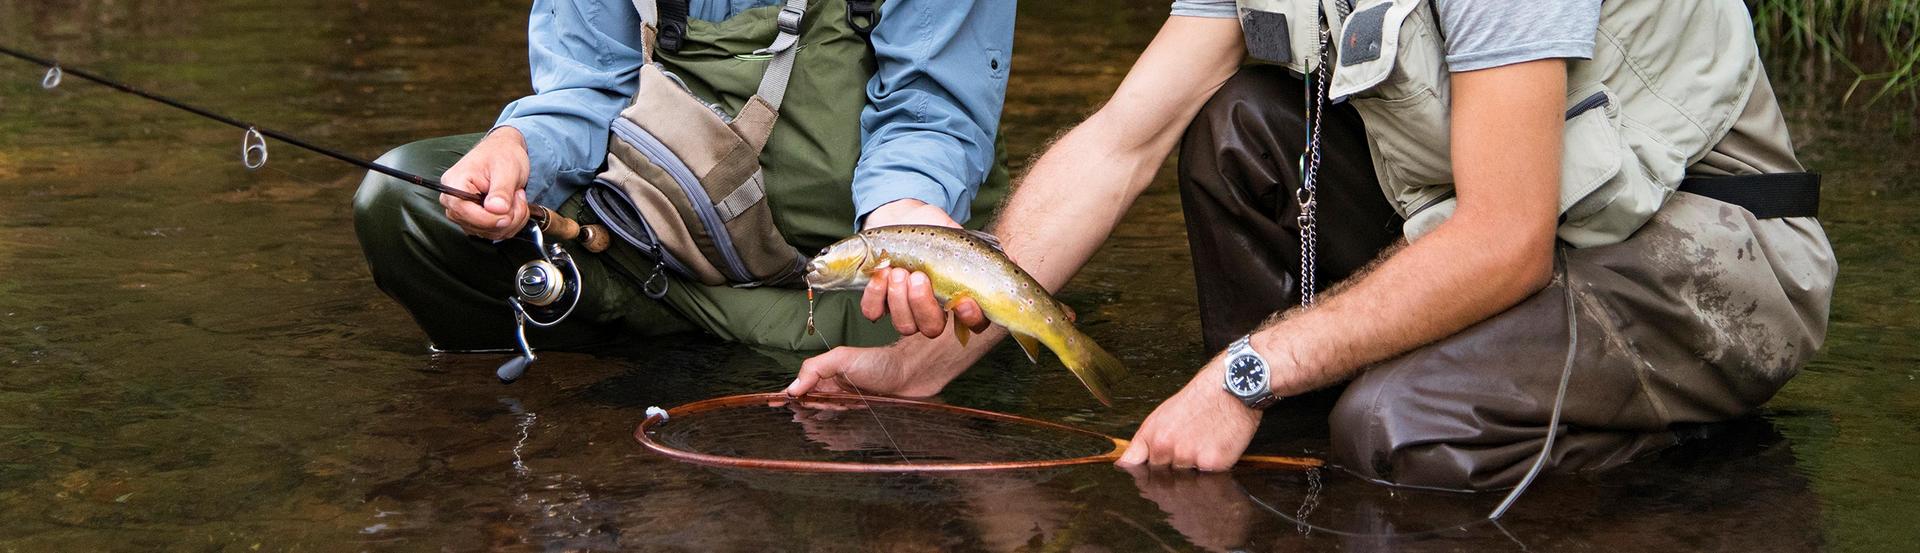
[{"label": "black fishing rod with cork handle and attached spinning reel", "polygon": [[[467,202],[472,202],[472,204],[486,204],[486,196],[447,186],[447,184],[440,182],[440,179],[407,173],[407,171],[394,169],[394,167],[388,167],[388,165],[382,165],[382,163],[374,163],[374,161],[367,161],[367,159],[361,159],[361,157],[355,157],[355,156],[348,156],[348,154],[342,154],[342,152],[332,150],[332,148],[315,146],[315,144],[311,144],[307,140],[300,140],[298,136],[292,136],[292,134],[286,134],[286,132],[280,132],[280,131],[273,131],[273,129],[265,129],[265,127],[259,127],[259,125],[253,125],[253,123],[246,123],[246,121],[240,121],[240,119],[234,119],[234,117],[227,117],[227,115],[215,113],[211,109],[198,108],[198,106],[192,106],[192,104],[186,104],[186,102],[180,102],[180,100],[173,100],[173,98],[167,98],[167,96],[161,96],[161,94],[146,92],[146,90],[134,88],[132,84],[119,83],[119,81],[96,75],[96,73],[86,71],[86,69],[63,67],[56,60],[40,58],[40,56],[35,56],[35,54],[27,54],[27,52],[21,52],[21,50],[8,48],[8,46],[0,46],[0,54],[13,56],[13,58],[25,60],[29,63],[36,63],[40,67],[46,67],[46,77],[40,79],[40,88],[46,88],[46,90],[52,90],[54,86],[60,86],[60,81],[65,75],[73,75],[73,77],[81,77],[81,79],[98,83],[102,86],[119,90],[119,92],[140,96],[140,98],[146,98],[146,100],[152,100],[152,102],[165,104],[165,106],[175,108],[175,109],[182,109],[182,111],[188,111],[188,113],[194,113],[194,115],[200,115],[200,117],[205,117],[205,119],[213,119],[213,121],[225,123],[225,125],[230,125],[234,129],[244,129],[246,134],[240,136],[240,165],[244,165],[248,171],[259,169],[259,167],[267,165],[267,138],[275,138],[275,140],[280,140],[280,142],[286,142],[286,144],[294,144],[294,146],[298,146],[301,150],[307,150],[307,152],[313,152],[313,154],[321,154],[321,156],[326,156],[326,157],[334,157],[334,159],[346,161],[348,165],[355,165],[355,167],[361,167],[361,169],[367,169],[367,171],[374,171],[374,173],[380,173],[380,175],[386,175],[386,177],[394,177],[394,179],[405,180],[409,184],[415,184],[415,186],[420,186],[420,188],[426,188],[426,190],[434,190],[434,192],[440,192],[440,194],[461,198],[461,200],[467,200]],[[495,371],[495,376],[499,376],[501,382],[518,380],[520,374],[526,373],[526,367],[532,365],[534,359],[536,359],[534,357],[534,348],[526,340],[526,325],[534,325],[534,326],[541,326],[541,328],[553,326],[553,325],[561,325],[561,321],[564,321],[568,315],[572,315],[574,307],[580,305],[580,296],[582,296],[580,294],[580,284],[582,284],[580,282],[580,267],[574,265],[572,255],[566,253],[566,250],[561,248],[559,242],[547,242],[547,236],[553,236],[553,238],[559,238],[559,240],[574,240],[574,238],[578,238],[580,244],[584,248],[588,248],[588,252],[595,252],[595,253],[597,252],[605,252],[607,246],[611,246],[611,240],[612,240],[609,236],[607,228],[603,228],[599,225],[580,225],[580,223],[574,223],[572,219],[566,219],[564,215],[555,213],[553,209],[547,209],[545,205],[528,205],[526,219],[532,225],[526,225],[524,228],[520,228],[520,236],[526,238],[528,242],[534,242],[534,250],[540,252],[540,259],[526,261],[524,265],[520,265],[520,271],[516,271],[515,278],[513,278],[513,282],[515,282],[515,286],[513,286],[515,296],[509,296],[507,303],[513,307],[515,342],[518,346],[518,355],[513,357],[513,359],[509,359],[505,365],[499,367],[499,371]]]}]

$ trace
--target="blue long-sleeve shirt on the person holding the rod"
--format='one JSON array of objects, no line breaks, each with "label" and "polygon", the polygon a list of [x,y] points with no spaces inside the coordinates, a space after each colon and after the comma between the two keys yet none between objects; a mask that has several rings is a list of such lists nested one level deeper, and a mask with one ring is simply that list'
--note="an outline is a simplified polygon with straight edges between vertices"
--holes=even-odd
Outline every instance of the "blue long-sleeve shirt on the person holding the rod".
[{"label": "blue long-sleeve shirt on the person holding the rod", "polygon": [[[718,21],[772,4],[780,2],[693,0],[689,17]],[[509,104],[495,121],[526,136],[534,204],[559,205],[599,173],[607,127],[637,86],[639,25],[630,0],[534,2],[534,96]],[[876,71],[852,175],[856,217],[912,198],[966,223],[993,163],[1014,0],[887,0],[872,44]]]}]

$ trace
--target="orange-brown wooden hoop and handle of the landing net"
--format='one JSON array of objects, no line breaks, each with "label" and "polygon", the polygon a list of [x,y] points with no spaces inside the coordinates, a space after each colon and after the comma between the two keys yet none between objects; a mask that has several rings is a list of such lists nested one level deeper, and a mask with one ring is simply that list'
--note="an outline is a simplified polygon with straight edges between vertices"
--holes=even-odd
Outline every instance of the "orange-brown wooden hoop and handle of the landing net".
[{"label": "orange-brown wooden hoop and handle of the landing net", "polygon": [[[660,444],[659,440],[653,440],[653,436],[649,434],[649,430],[653,430],[660,422],[666,422],[668,419],[689,417],[689,415],[697,415],[697,413],[703,413],[703,411],[714,411],[714,409],[737,407],[737,405],[770,405],[770,403],[791,403],[791,401],[810,401],[810,399],[812,401],[862,401],[864,399],[866,403],[912,405],[912,407],[935,409],[935,411],[947,411],[947,413],[958,413],[958,415],[979,417],[979,419],[993,419],[993,421],[1004,421],[1004,422],[1043,426],[1043,428],[1052,428],[1052,430],[1060,430],[1060,432],[1071,432],[1071,434],[1081,434],[1081,436],[1092,436],[1092,438],[1100,438],[1100,440],[1110,440],[1110,442],[1114,442],[1114,449],[1110,449],[1106,453],[1100,453],[1100,455],[1073,457],[1073,459],[977,461],[977,463],[952,461],[952,463],[912,463],[912,465],[908,465],[908,463],[852,463],[852,461],[795,461],[795,459],[726,457],[726,455],[710,455],[710,453],[695,453],[695,451],[676,449],[676,447],[670,447],[666,444]],[[680,407],[674,407],[674,409],[666,409],[664,415],[662,413],[653,413],[653,415],[647,415],[645,421],[639,421],[639,426],[634,428],[634,440],[637,440],[639,445],[645,445],[647,449],[653,449],[653,453],[660,453],[660,455],[664,455],[668,459],[682,461],[682,463],[707,465],[707,467],[730,467],[730,469],[791,470],[791,472],[972,472],[972,470],[1056,469],[1056,467],[1114,463],[1114,461],[1119,461],[1119,455],[1123,451],[1127,451],[1127,440],[1119,440],[1119,438],[1106,436],[1106,434],[1092,432],[1092,430],[1085,430],[1085,428],[1073,428],[1073,426],[1060,424],[1060,422],[1027,419],[1027,417],[1018,417],[1018,415],[1006,415],[1006,413],[995,413],[995,411],[981,411],[981,409],[968,409],[968,407],[956,407],[956,405],[933,403],[933,401],[920,401],[920,399],[904,399],[904,397],[883,397],[883,396],[866,396],[866,397],[860,397],[860,396],[852,396],[852,394],[808,394],[808,396],[801,396],[801,397],[789,397],[787,394],[780,394],[780,392],[724,396],[724,397],[701,399],[701,401],[685,403],[685,405],[680,405]],[[1321,465],[1325,465],[1321,459],[1311,459],[1311,457],[1281,457],[1281,455],[1246,455],[1246,457],[1240,457],[1240,463],[1238,463],[1238,467],[1290,469],[1290,470],[1317,469]]]}]

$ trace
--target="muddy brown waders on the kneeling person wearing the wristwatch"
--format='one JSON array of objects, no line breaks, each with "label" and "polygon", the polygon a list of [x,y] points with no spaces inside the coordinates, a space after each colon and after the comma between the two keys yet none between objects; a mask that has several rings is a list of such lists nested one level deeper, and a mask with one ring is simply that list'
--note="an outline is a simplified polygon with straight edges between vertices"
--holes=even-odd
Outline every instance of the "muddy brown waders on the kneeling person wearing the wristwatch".
[{"label": "muddy brown waders on the kneeling person wearing the wristwatch", "polygon": [[[1699,173],[1799,171],[1766,79]],[[1763,94],[1764,92],[1764,94]],[[1210,349],[1298,301],[1296,159],[1304,90],[1242,69],[1181,144],[1181,198]],[[1359,115],[1331,106],[1319,186],[1319,286],[1400,240]],[[1776,136],[1776,138],[1774,138]],[[1788,154],[1780,154],[1780,152]],[[1580,156],[1580,152],[1567,152]],[[1743,163],[1732,159],[1747,159]],[[1711,167],[1709,167],[1711,165]],[[1632,238],[1565,250],[1565,278],[1501,315],[1365,369],[1329,415],[1334,459],[1361,476],[1432,488],[1517,484],[1540,451],[1567,348],[1578,348],[1555,470],[1603,470],[1667,447],[1693,422],[1751,413],[1818,349],[1836,261],[1811,217],[1674,194]],[[1419,313],[1394,313],[1419,317]]]}]

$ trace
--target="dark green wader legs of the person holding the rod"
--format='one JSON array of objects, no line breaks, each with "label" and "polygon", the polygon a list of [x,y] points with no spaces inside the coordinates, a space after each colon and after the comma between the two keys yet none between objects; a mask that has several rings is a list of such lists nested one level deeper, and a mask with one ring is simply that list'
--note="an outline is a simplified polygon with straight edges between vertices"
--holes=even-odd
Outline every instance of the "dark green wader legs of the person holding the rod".
[{"label": "dark green wader legs of the person holding the rod", "polygon": [[[445,136],[399,146],[380,163],[415,175],[440,175],[453,167],[482,134]],[[582,225],[599,223],[582,209],[576,194],[559,207]],[[513,275],[534,259],[526,240],[492,242],[467,236],[447,221],[434,192],[371,173],[353,196],[353,230],[359,234],[374,284],[413,313],[438,349],[509,349],[513,344]],[[653,265],[626,246],[588,253],[564,244],[580,265],[580,307],[553,328],[528,328],[534,348],[582,348],[637,336],[710,332],[714,336],[781,349],[826,349],[831,344],[883,346],[900,334],[881,319],[860,317],[858,294],[824,294],[814,311],[822,336],[806,334],[806,290],[701,286],[674,278],[660,300],[641,292]]]}]

